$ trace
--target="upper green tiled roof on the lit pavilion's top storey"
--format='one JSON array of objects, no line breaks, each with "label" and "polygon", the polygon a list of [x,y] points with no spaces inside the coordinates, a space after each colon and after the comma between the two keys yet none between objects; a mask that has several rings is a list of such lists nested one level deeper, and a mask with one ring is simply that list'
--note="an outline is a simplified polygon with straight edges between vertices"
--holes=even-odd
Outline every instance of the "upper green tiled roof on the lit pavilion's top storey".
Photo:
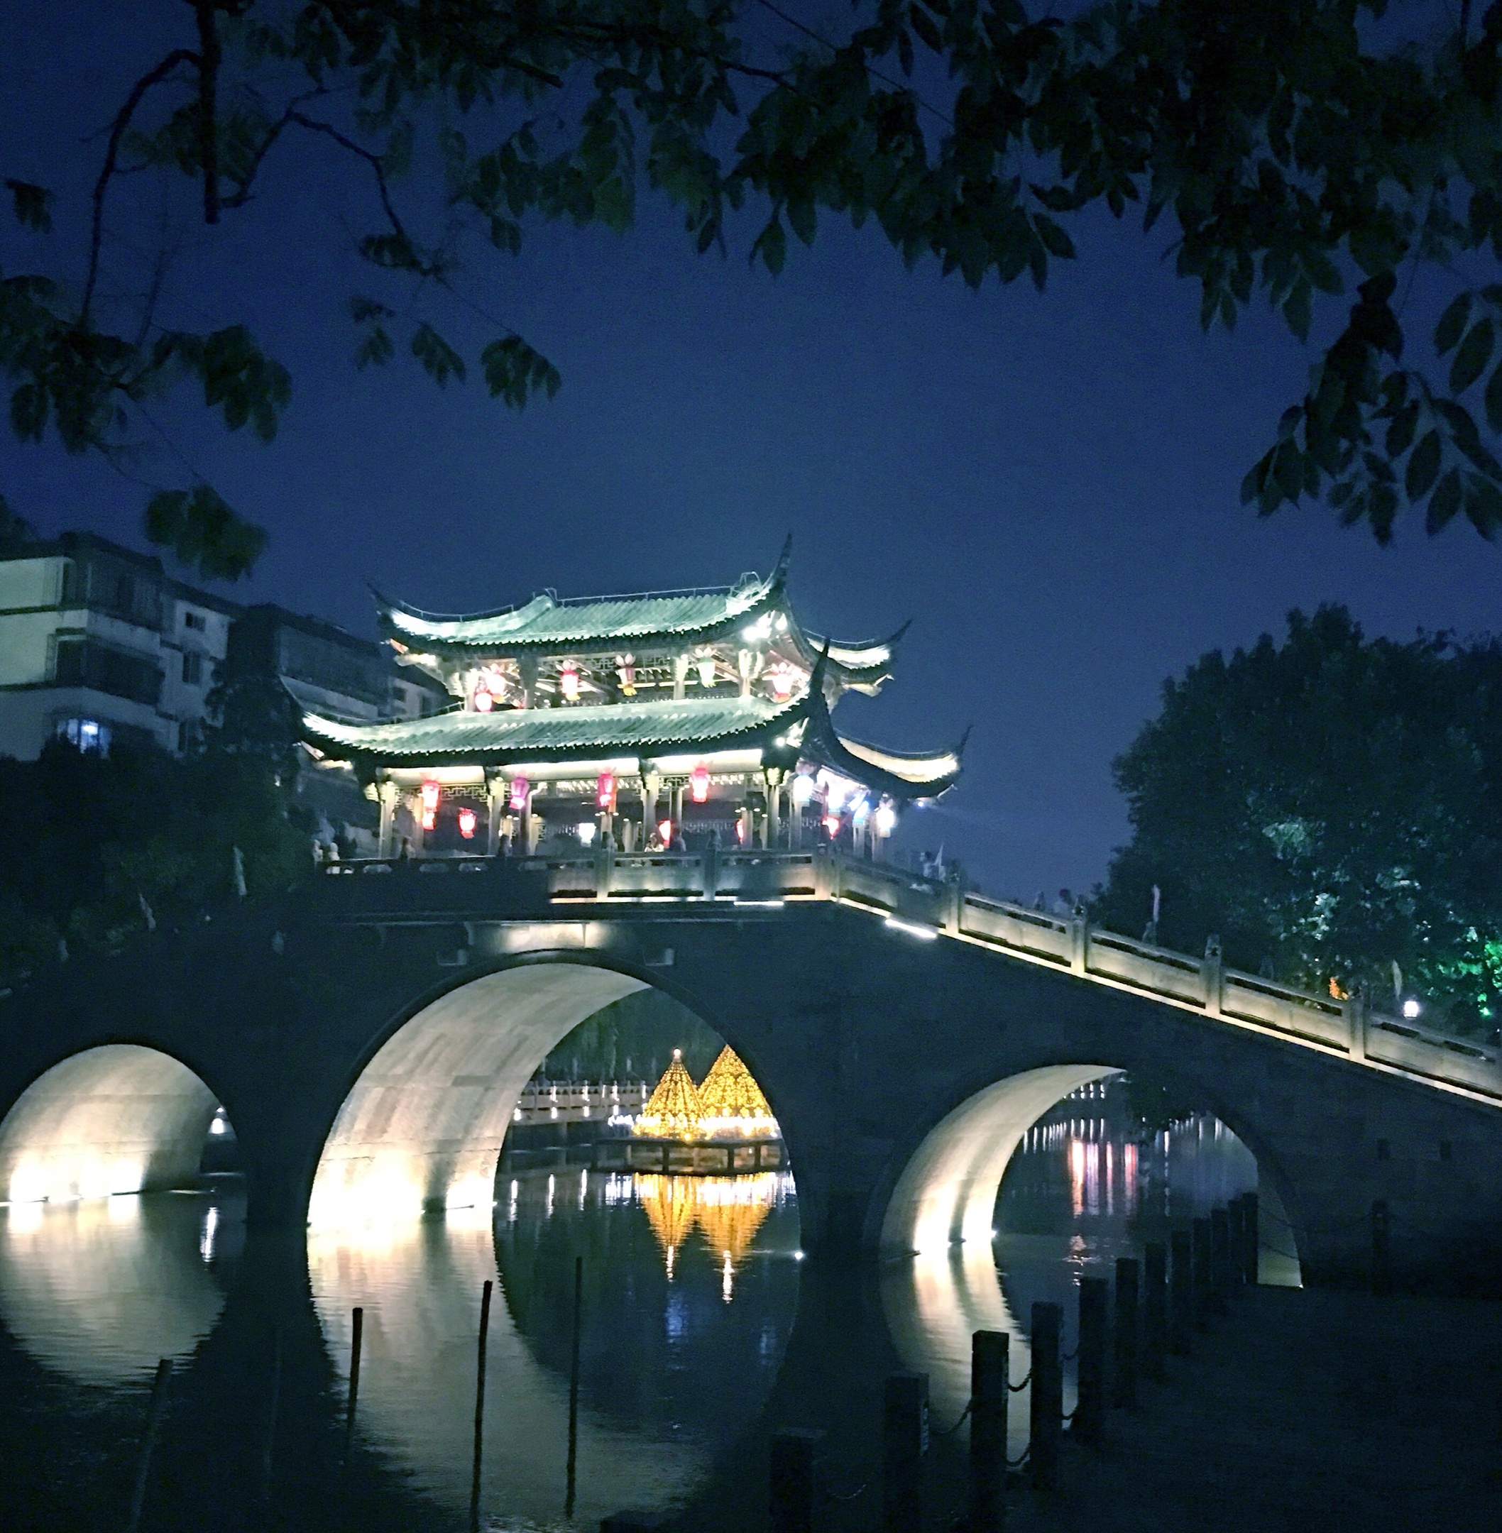
[{"label": "upper green tiled roof on the lit pavilion's top storey", "polygon": [[579,602],[533,596],[524,607],[475,618],[431,618],[386,606],[382,618],[385,627],[409,645],[556,652],[602,644],[613,648],[722,629],[754,613],[771,589],[771,583],[757,583],[736,590]]}]

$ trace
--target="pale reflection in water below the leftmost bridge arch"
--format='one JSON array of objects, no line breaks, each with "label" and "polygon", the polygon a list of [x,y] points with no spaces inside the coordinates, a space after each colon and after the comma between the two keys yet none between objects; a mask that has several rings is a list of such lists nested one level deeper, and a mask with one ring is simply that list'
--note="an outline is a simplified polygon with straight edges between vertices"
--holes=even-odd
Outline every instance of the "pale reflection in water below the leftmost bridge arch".
[{"label": "pale reflection in water below the leftmost bridge arch", "polygon": [[78,1384],[136,1384],[224,1308],[244,1199],[162,1193],[0,1208],[0,1318]]}]

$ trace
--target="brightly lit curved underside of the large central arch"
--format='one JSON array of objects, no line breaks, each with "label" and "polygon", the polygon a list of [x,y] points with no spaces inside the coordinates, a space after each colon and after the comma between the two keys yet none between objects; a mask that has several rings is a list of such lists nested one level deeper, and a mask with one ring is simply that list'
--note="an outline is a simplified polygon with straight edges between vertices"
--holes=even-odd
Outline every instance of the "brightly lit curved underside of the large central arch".
[{"label": "brightly lit curved underside of the large central arch", "polygon": [[308,1222],[330,1228],[489,1203],[533,1070],[587,1016],[641,989],[612,969],[546,964],[483,975],[425,1007],[345,1099]]}]

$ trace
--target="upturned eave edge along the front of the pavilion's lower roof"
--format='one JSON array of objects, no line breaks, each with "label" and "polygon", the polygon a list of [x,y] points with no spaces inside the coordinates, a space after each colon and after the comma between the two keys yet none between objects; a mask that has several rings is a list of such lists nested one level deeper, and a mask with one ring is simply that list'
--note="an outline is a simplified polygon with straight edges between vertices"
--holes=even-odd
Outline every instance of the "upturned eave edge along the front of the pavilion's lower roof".
[{"label": "upturned eave edge along the front of the pavilion's lower roof", "polygon": [[[627,708],[635,711],[638,707],[650,705],[607,704],[602,705],[599,711],[608,710],[615,713],[616,710]],[[536,711],[547,714],[555,710]],[[438,725],[441,721],[454,719],[455,716],[466,719],[477,717],[475,714],[466,714],[460,710],[435,713],[429,714],[425,721],[409,721],[398,725],[354,724],[351,721],[325,719],[316,713],[303,713],[300,733],[307,744],[317,747],[317,750],[326,757],[348,760],[356,766],[366,770],[380,766],[443,766],[458,763],[472,766],[510,766],[518,763],[533,763],[538,760],[559,763],[595,762],[602,757],[618,759],[628,756],[653,760],[665,756],[710,756],[717,751],[751,748],[765,750],[768,745],[776,742],[779,734],[785,734],[789,728],[799,724],[806,713],[808,698],[800,698],[777,713],[739,730],[722,730],[714,734],[697,737],[674,737],[667,733],[656,739],[619,740],[593,737],[567,745],[547,745],[527,740],[515,745],[501,745],[497,742],[486,742],[483,739],[475,740],[474,744],[463,744],[448,739],[441,742],[435,740],[429,748],[423,748],[415,742],[400,744],[389,742],[382,737],[382,731],[391,728],[406,728],[411,733],[412,724],[425,725],[432,722],[434,725]],[[513,714],[481,714],[478,717],[503,719],[512,716]],[[349,733],[356,730],[359,731],[359,737],[349,739]]]}]

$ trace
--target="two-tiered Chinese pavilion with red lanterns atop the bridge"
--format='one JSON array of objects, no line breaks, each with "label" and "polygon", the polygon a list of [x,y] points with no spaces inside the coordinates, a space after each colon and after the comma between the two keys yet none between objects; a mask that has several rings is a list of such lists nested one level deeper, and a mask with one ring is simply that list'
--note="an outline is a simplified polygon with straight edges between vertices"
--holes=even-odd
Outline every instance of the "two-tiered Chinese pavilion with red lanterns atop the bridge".
[{"label": "two-tiered Chinese pavilion with red lanterns atop the bridge", "polygon": [[838,733],[897,642],[838,644],[768,578],[642,596],[558,599],[467,618],[377,596],[402,665],[437,678],[443,713],[382,724],[305,713],[303,739],[348,762],[380,805],[380,854],[797,848],[880,855],[901,809],[959,776],[959,750],[906,754]]}]

